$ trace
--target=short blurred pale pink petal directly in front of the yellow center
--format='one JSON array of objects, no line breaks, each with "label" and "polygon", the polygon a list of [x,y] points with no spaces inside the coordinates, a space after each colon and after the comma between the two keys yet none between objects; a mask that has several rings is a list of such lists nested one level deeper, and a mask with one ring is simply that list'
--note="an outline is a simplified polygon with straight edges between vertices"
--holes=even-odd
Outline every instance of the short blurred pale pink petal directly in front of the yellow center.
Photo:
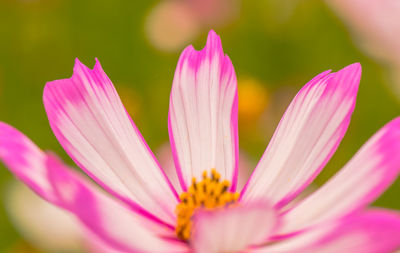
[{"label": "short blurred pale pink petal directly in front of the yellow center", "polygon": [[262,202],[199,211],[193,218],[190,244],[196,253],[241,252],[267,241],[277,225],[276,210]]}]

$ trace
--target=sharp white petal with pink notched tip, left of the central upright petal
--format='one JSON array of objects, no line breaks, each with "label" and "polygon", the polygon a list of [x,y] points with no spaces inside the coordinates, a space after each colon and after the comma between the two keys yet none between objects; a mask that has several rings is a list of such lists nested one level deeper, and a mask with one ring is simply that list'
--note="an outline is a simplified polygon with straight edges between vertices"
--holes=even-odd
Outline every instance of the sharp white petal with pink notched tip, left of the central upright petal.
[{"label": "sharp white petal with pink notched tip, left of the central upright petal", "polygon": [[87,174],[134,208],[175,222],[177,194],[97,59],[93,70],[76,60],[71,78],[46,84],[43,101],[57,139]]}]

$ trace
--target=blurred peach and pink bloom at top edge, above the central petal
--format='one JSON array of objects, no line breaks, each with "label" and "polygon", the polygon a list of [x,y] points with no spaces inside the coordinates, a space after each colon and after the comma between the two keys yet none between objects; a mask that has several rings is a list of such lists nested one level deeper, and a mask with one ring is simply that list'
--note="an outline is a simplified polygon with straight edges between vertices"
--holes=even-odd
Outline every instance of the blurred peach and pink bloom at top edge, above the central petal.
[{"label": "blurred peach and pink bloom at top edge, above the central petal", "polygon": [[239,0],[162,0],[146,18],[150,43],[162,51],[178,51],[208,27],[221,27],[239,14]]}]

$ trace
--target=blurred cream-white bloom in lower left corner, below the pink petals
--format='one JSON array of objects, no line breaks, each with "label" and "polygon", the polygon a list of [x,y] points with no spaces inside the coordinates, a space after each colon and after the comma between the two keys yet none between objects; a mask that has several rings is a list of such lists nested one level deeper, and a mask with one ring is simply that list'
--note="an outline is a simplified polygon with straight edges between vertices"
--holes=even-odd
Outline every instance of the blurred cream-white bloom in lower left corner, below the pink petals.
[{"label": "blurred cream-white bloom in lower left corner, below the pink petals", "polygon": [[81,252],[83,229],[78,220],[37,196],[28,187],[13,182],[7,189],[6,210],[22,236],[45,252]]}]

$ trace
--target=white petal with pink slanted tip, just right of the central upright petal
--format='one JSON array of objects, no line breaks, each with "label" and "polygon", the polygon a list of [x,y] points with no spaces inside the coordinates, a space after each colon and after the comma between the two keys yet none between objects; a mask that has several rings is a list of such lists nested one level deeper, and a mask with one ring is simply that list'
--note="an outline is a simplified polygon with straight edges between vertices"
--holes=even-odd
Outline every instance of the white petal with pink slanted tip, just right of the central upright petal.
[{"label": "white petal with pink slanted tip, just right of the central upright petal", "polygon": [[354,110],[361,66],[316,76],[296,95],[242,192],[282,207],[318,175],[342,140]]}]

